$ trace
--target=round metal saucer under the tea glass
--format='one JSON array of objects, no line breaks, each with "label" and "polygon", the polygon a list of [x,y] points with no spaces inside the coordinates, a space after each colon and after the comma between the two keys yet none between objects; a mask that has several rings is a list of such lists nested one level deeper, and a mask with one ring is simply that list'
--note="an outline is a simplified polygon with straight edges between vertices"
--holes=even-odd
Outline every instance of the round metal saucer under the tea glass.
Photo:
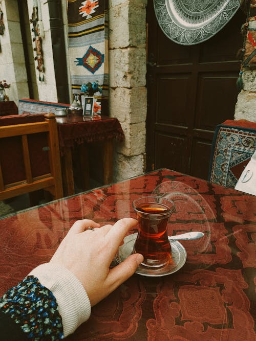
[{"label": "round metal saucer under the tea glass", "polygon": [[[124,237],[123,244],[119,246],[116,253],[116,261],[119,264],[133,253],[133,246],[137,235],[137,233],[134,233]],[[139,265],[135,271],[136,274],[147,277],[161,277],[178,271],[185,264],[187,253],[184,246],[178,241],[172,241],[170,242],[170,245],[172,246],[172,262],[169,262],[160,268],[148,268],[144,265]]]}]

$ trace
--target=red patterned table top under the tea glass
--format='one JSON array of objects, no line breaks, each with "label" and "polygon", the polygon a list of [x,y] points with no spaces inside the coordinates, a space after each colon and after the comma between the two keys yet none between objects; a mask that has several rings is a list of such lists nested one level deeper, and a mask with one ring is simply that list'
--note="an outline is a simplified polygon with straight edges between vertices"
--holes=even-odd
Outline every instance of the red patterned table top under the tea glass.
[{"label": "red patterned table top under the tea glass", "polygon": [[68,339],[254,341],[256,197],[167,169],[0,220],[0,294],[49,261],[77,219],[104,225],[135,218],[132,201],[152,193],[175,201],[169,235],[204,237],[181,241],[187,260],[180,270],[135,274]]}]

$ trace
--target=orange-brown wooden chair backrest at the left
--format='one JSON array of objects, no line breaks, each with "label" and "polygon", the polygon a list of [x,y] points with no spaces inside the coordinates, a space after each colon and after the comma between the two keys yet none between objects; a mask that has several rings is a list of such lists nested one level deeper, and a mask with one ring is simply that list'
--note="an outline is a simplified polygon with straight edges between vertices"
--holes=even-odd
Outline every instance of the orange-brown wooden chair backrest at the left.
[{"label": "orange-brown wooden chair backrest at the left", "polygon": [[0,118],[0,200],[40,189],[63,196],[55,115]]}]

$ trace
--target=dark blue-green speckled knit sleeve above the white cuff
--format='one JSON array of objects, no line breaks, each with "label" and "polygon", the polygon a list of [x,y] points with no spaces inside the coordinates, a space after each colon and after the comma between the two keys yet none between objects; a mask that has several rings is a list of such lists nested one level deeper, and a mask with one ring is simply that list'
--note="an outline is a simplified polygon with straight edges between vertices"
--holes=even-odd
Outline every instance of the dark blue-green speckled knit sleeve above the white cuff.
[{"label": "dark blue-green speckled knit sleeve above the white cuff", "polygon": [[[36,277],[27,276],[17,286],[10,288],[0,299],[0,312],[8,315],[28,340],[50,341],[63,338],[56,299]],[[9,336],[11,333],[12,330]]]}]

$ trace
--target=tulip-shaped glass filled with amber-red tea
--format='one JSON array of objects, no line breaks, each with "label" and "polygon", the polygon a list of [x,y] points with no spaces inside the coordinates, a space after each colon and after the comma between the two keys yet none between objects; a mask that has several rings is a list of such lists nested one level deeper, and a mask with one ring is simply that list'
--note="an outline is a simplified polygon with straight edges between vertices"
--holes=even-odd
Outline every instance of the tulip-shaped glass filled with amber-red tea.
[{"label": "tulip-shaped glass filled with amber-red tea", "polygon": [[144,196],[133,201],[139,222],[134,253],[144,257],[142,265],[160,267],[172,259],[167,222],[174,211],[174,202],[161,196]]}]

